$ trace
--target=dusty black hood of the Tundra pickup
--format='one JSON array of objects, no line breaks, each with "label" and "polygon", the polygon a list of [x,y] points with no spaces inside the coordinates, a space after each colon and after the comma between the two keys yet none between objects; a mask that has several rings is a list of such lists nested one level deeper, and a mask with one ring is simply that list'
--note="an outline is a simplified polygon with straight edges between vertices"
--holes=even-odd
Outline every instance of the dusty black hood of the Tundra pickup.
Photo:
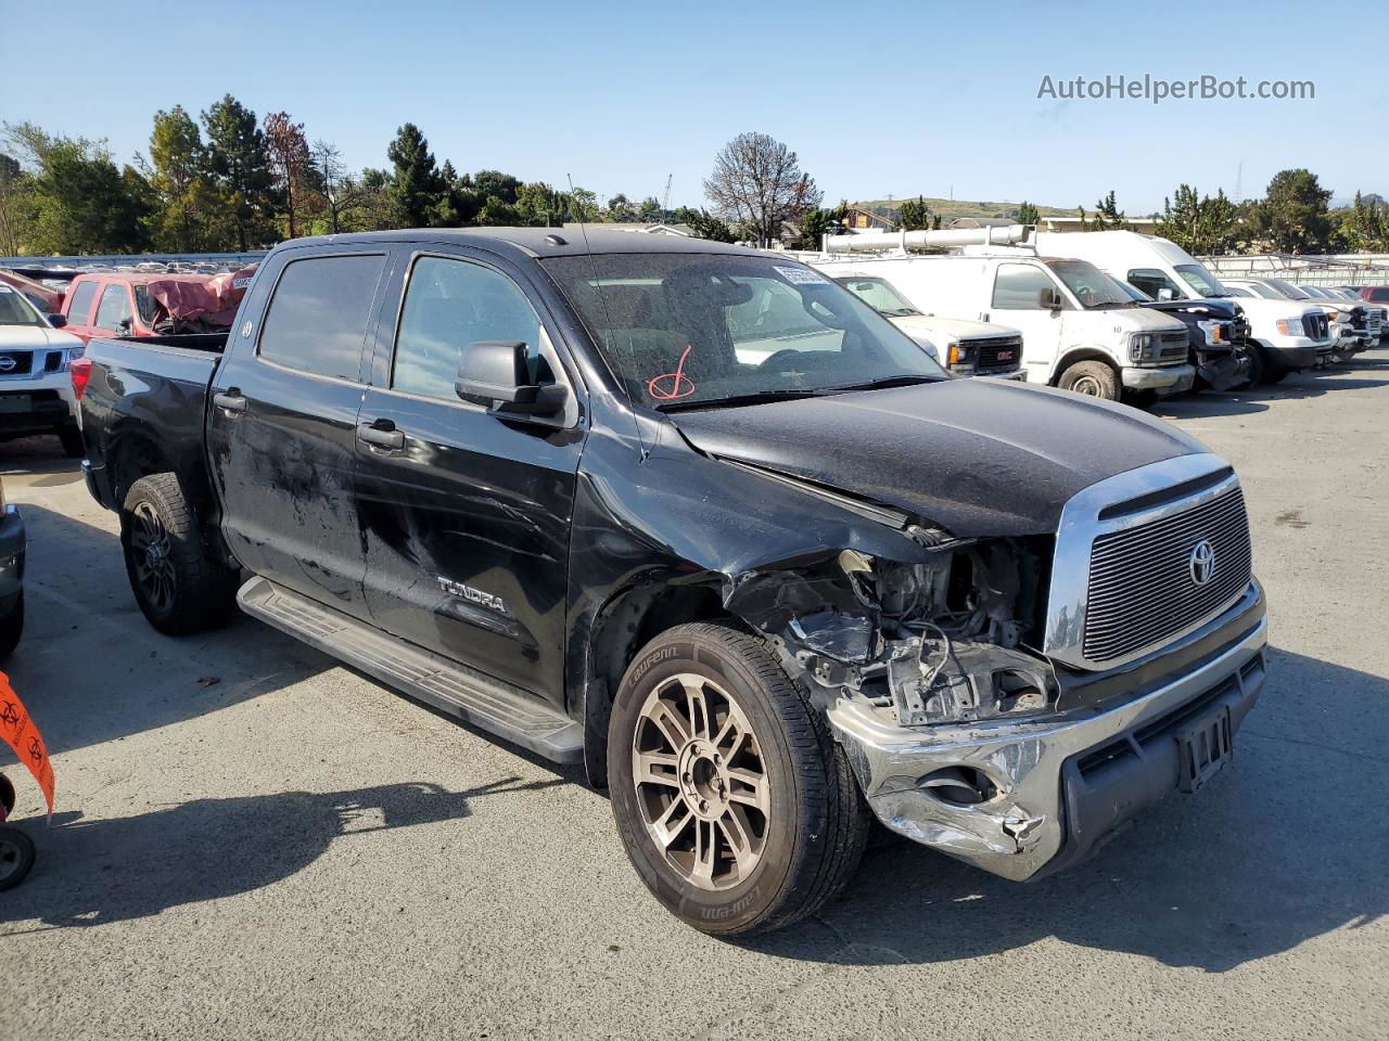
[{"label": "dusty black hood of the Tundra pickup", "polygon": [[990,379],[671,415],[710,455],[895,505],[953,534],[1054,532],[1097,480],[1206,451],[1124,405]]}]

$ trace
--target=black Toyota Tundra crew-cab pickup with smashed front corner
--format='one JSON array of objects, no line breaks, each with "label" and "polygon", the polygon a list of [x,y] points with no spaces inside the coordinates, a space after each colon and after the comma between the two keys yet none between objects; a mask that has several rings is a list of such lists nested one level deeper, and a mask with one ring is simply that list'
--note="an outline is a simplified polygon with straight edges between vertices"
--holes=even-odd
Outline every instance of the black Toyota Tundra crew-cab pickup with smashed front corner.
[{"label": "black Toyota Tundra crew-cab pickup with smashed front corner", "polygon": [[296,240],[225,348],[86,357],[86,479],[157,629],[235,602],[582,762],[710,933],[811,913],[874,818],[1008,879],[1074,863],[1213,777],[1264,682],[1226,462],[953,379],[774,254]]}]

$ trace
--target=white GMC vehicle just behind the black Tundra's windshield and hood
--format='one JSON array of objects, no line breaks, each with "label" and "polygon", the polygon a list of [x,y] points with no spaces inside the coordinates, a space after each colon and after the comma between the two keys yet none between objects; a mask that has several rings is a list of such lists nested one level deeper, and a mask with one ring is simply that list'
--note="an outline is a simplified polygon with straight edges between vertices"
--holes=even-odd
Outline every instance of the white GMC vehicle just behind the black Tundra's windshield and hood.
[{"label": "white GMC vehicle just behind the black Tundra's windshield and hood", "polygon": [[1003,325],[925,315],[888,279],[836,268],[835,282],[920,343],[956,376],[1025,380],[1022,333]]}]

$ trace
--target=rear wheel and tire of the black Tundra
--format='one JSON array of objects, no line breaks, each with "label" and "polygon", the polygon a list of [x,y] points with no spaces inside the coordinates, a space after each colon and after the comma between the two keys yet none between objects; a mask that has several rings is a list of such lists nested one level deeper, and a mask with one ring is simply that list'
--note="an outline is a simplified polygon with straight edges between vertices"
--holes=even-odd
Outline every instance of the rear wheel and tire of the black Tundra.
[{"label": "rear wheel and tire of the black Tundra", "polygon": [[135,602],[168,636],[226,620],[238,572],[214,559],[172,473],[140,477],[121,507],[121,548]]}]

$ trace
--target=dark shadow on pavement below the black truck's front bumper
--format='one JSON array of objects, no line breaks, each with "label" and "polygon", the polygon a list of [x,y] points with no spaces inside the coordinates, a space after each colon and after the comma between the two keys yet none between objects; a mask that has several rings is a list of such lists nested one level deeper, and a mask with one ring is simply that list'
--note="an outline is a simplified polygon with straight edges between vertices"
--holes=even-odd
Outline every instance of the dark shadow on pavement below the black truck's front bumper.
[{"label": "dark shadow on pavement below the black truck's front bumper", "polygon": [[932,963],[1056,937],[1225,972],[1389,911],[1389,682],[1274,651],[1232,769],[1172,795],[1093,861],[1008,883],[910,843],[847,898],[749,947],[846,965]]}]

